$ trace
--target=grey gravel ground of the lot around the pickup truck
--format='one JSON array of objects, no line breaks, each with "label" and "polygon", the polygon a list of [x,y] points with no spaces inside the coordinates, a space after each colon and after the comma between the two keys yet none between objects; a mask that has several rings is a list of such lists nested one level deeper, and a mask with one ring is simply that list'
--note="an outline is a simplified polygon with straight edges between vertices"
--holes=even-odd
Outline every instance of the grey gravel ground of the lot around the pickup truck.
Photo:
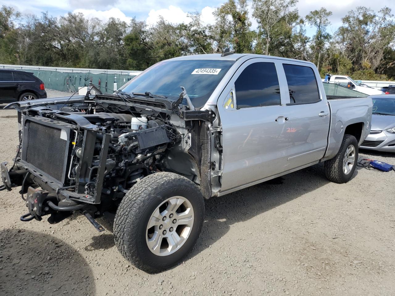
[{"label": "grey gravel ground of the lot around the pickup truck", "polygon": [[[16,120],[0,110],[1,161],[14,157]],[[100,234],[78,215],[21,222],[17,190],[1,191],[0,295],[395,295],[394,176],[358,167],[339,185],[318,164],[207,200],[196,246],[154,275],[117,251],[111,217]]]}]

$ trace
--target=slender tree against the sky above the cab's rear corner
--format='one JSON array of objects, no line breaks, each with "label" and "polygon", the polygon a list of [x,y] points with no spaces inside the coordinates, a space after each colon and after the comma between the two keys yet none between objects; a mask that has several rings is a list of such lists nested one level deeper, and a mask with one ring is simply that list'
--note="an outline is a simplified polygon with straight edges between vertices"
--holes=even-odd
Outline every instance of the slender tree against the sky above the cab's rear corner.
[{"label": "slender tree against the sky above the cab's rear corner", "polygon": [[331,35],[326,32],[327,26],[331,24],[328,19],[331,15],[332,12],[327,11],[324,7],[321,7],[320,10],[310,11],[306,15],[308,24],[316,28],[316,34],[313,36],[313,51],[318,71],[320,71],[321,52],[324,49],[325,43],[331,39]]}]

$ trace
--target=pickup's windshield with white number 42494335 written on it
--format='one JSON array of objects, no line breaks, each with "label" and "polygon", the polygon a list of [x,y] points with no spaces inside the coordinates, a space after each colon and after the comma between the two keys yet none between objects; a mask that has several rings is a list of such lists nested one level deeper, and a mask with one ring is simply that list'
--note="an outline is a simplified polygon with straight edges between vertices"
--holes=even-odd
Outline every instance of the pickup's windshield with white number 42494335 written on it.
[{"label": "pickup's windshield with white number 42494335 written on it", "polygon": [[163,61],[120,90],[129,94],[150,92],[175,101],[182,92],[181,86],[184,86],[192,104],[201,107],[233,64],[234,61],[228,60]]}]

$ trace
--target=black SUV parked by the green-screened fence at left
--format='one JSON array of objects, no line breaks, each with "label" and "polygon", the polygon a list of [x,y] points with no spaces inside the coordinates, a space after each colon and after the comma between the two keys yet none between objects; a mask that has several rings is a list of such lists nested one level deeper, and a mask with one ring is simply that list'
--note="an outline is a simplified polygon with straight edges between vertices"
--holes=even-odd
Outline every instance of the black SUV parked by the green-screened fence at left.
[{"label": "black SUV parked by the green-screened fence at left", "polygon": [[44,83],[32,73],[0,69],[0,103],[45,99]]}]

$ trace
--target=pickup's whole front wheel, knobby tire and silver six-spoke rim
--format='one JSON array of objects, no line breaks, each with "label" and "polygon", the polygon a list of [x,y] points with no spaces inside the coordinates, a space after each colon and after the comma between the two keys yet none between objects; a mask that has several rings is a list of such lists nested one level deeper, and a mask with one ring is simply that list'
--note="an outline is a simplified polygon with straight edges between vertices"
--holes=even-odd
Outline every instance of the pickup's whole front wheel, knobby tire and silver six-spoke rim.
[{"label": "pickup's whole front wheel, knobby tire and silver six-spoke rim", "polygon": [[122,199],[114,220],[115,244],[137,268],[158,272],[192,249],[203,218],[203,196],[192,181],[169,172],[155,173]]}]

